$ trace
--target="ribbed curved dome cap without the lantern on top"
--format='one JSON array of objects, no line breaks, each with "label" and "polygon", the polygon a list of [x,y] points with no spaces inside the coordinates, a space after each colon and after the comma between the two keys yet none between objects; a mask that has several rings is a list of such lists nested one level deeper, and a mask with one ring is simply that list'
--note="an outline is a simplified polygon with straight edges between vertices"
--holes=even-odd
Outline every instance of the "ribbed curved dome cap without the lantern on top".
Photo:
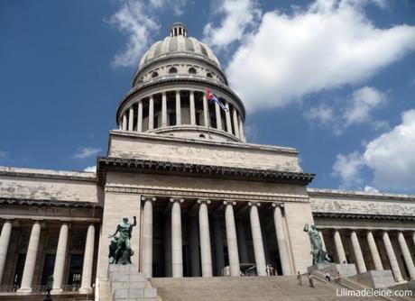
[{"label": "ribbed curved dome cap without the lantern on top", "polygon": [[213,60],[219,67],[219,61],[213,51],[210,48],[196,40],[195,38],[184,37],[183,35],[178,35],[174,37],[166,37],[163,41],[156,41],[150,47],[150,50],[144,53],[143,58],[140,60],[139,67],[142,67],[143,64],[157,59],[164,55],[171,54],[180,54],[180,53],[189,53],[191,55],[198,55],[204,57],[205,59]]}]

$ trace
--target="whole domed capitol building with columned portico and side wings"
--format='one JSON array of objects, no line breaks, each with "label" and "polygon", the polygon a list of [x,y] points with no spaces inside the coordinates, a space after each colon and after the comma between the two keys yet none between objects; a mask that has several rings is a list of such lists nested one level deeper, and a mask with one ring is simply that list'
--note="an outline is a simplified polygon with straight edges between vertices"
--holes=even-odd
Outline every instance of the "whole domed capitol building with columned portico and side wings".
[{"label": "whole domed capitol building with columned portico and side wings", "polygon": [[[249,143],[245,115],[213,51],[174,23],[138,62],[96,173],[0,167],[0,299],[42,300],[53,276],[53,300],[205,300],[226,283],[318,300],[295,278],[312,265],[306,224],[345,285],[413,283],[415,196],[309,188],[300,150]],[[108,235],[134,216],[118,275]]]}]

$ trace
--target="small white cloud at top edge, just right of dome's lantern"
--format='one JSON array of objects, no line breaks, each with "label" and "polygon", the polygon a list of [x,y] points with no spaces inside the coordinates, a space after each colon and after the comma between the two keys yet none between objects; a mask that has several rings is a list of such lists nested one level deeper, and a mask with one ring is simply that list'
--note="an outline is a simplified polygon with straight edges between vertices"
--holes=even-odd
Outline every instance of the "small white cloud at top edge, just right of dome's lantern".
[{"label": "small white cloud at top edge, just right of dome's lantern", "polygon": [[224,18],[218,27],[208,23],[203,29],[204,41],[217,49],[224,49],[233,41],[241,40],[245,30],[255,25],[261,10],[254,0],[223,0],[216,14]]}]

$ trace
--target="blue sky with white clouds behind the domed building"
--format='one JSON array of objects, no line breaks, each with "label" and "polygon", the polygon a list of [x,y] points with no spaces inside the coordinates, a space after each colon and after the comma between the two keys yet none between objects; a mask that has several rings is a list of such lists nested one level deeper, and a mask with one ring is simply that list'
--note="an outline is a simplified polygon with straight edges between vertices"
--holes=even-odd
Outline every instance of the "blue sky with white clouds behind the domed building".
[{"label": "blue sky with white clouds behind the domed building", "polygon": [[311,187],[415,193],[412,0],[0,1],[0,165],[95,165],[175,21],[217,54],[248,140],[300,150]]}]

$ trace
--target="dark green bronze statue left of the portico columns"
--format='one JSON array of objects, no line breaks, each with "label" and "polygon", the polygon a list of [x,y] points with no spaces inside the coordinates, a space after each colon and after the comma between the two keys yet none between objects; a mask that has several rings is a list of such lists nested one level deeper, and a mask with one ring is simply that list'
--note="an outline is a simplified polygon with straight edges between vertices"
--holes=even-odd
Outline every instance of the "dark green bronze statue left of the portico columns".
[{"label": "dark green bronze statue left of the portico columns", "polygon": [[[133,227],[137,225],[136,217],[134,216],[134,223],[128,222],[128,218],[124,217],[123,221],[116,227],[116,231],[113,235],[109,235],[111,238],[109,242],[109,264],[131,264],[131,256],[134,255],[134,251],[131,250],[131,233]],[[118,236],[115,236],[119,233]]]}]

